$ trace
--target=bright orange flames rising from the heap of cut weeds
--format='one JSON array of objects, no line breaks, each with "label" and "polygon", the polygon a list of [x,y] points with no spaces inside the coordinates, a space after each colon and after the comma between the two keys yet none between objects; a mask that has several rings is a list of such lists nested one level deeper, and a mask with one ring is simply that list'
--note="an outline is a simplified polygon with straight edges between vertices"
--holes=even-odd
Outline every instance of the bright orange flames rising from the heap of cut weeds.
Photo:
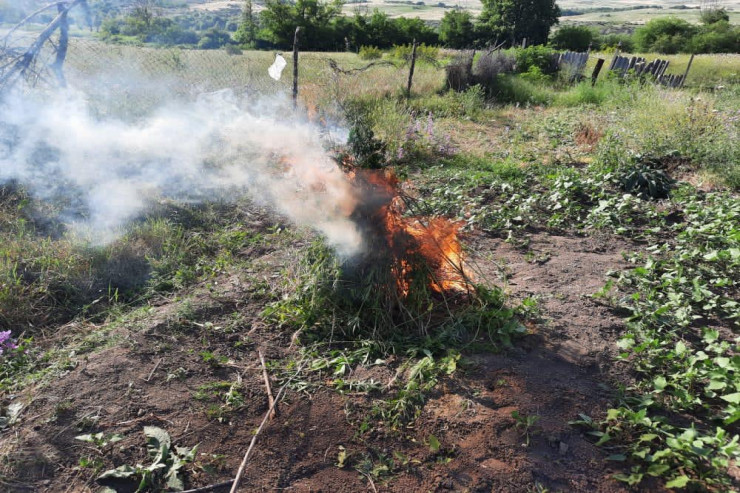
[{"label": "bright orange flames rising from the heap of cut weeds", "polygon": [[406,198],[391,171],[352,170],[350,177],[364,196],[359,207],[367,211],[385,239],[403,297],[421,271],[426,271],[428,285],[437,293],[470,294],[471,277],[458,239],[461,223],[443,217],[406,216]]}]

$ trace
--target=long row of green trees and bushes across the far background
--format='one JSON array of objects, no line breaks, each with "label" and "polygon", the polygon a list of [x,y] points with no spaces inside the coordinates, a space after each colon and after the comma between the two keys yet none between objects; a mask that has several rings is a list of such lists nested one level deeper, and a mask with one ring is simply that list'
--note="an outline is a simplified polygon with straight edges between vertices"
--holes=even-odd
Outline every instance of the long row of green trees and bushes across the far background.
[{"label": "long row of green trees and bushes across the far background", "polygon": [[245,0],[240,18],[221,22],[165,18],[140,5],[125,16],[107,19],[100,31],[112,41],[134,38],[200,48],[289,49],[300,27],[301,49],[309,51],[386,49],[414,40],[455,49],[509,47],[526,40],[527,45],[549,44],[572,51],[740,52],[740,27],[732,25],[727,11],[719,7],[702,11],[699,25],[665,17],[651,20],[632,34],[601,34],[594,28],[572,25],[551,34],[561,15],[555,0],[482,0],[482,5],[477,18],[463,9],[448,10],[438,26],[419,18],[391,18],[378,9],[345,16],[342,0],[265,0],[259,13],[252,0]]}]

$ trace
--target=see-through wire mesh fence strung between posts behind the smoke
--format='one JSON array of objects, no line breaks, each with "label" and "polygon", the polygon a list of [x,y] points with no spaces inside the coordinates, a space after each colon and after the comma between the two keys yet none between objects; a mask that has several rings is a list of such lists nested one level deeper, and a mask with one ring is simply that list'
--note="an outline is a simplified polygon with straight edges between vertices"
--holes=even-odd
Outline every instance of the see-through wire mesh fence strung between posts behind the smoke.
[{"label": "see-through wire mesh fence strung between posts behind the smoke", "polygon": [[[17,33],[12,45],[0,46],[0,57],[17,57],[30,46],[36,33]],[[55,40],[46,43],[25,78],[26,88],[51,88],[59,85],[48,70],[56,53]],[[105,43],[93,37],[72,37],[63,66],[69,86],[80,89],[91,99],[105,98],[125,108],[147,108],[173,98],[193,97],[204,92],[229,89],[240,96],[281,97],[290,94],[292,66],[278,81],[268,75],[275,52],[156,48]],[[353,53],[302,52],[299,62],[299,100],[302,107],[331,107],[347,97],[363,94],[387,96],[402,94],[408,66],[399,61],[368,67]],[[0,58],[0,67],[3,66]],[[355,69],[367,68],[366,70]],[[2,75],[0,68],[0,76]],[[433,65],[417,67],[414,87],[419,91],[438,89],[444,84],[444,71]]]}]

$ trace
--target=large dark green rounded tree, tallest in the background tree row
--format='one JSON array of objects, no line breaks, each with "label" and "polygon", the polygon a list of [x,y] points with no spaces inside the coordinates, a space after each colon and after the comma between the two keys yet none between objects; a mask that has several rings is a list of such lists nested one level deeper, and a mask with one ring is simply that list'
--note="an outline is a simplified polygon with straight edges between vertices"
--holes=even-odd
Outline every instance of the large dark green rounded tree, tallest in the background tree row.
[{"label": "large dark green rounded tree, tallest in the background tree row", "polygon": [[510,45],[545,44],[550,28],[558,23],[560,8],[555,0],[482,0],[483,11],[476,25],[481,44],[506,41]]}]

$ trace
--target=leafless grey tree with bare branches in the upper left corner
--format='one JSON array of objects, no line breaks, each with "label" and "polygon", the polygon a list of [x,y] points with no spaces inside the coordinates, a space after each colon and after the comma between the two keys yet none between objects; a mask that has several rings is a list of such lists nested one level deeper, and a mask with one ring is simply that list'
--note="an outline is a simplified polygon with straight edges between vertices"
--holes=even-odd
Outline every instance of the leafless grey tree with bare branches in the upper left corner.
[{"label": "leafless grey tree with bare branches in the upper left corner", "polygon": [[[24,78],[31,83],[35,83],[35,81],[43,77],[47,69],[54,73],[60,85],[64,86],[66,84],[62,66],[64,65],[69,46],[69,12],[78,6],[85,12],[88,26],[92,26],[87,0],[72,0],[71,2],[53,2],[41,7],[8,31],[2,40],[2,46],[0,46],[0,93],[7,91],[18,80]],[[46,25],[25,50],[9,46],[9,41],[16,31],[28,24],[40,13],[53,8],[57,10],[56,17]],[[54,42],[52,35],[57,31],[59,32],[59,36],[56,42]],[[55,53],[54,60],[48,66],[39,66],[37,63],[38,58],[42,48],[46,44],[52,46]]]}]

